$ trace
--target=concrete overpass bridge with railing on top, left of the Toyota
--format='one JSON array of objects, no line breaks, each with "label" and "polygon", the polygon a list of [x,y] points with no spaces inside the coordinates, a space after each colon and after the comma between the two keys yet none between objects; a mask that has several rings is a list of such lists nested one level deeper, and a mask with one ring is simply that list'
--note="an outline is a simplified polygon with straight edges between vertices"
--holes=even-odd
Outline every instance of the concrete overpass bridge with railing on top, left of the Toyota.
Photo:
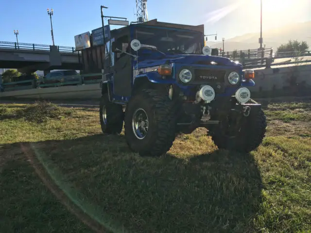
[{"label": "concrete overpass bridge with railing on top, left of the Toyota", "polygon": [[52,69],[82,69],[80,51],[73,47],[0,41],[0,68],[22,73]]}]

